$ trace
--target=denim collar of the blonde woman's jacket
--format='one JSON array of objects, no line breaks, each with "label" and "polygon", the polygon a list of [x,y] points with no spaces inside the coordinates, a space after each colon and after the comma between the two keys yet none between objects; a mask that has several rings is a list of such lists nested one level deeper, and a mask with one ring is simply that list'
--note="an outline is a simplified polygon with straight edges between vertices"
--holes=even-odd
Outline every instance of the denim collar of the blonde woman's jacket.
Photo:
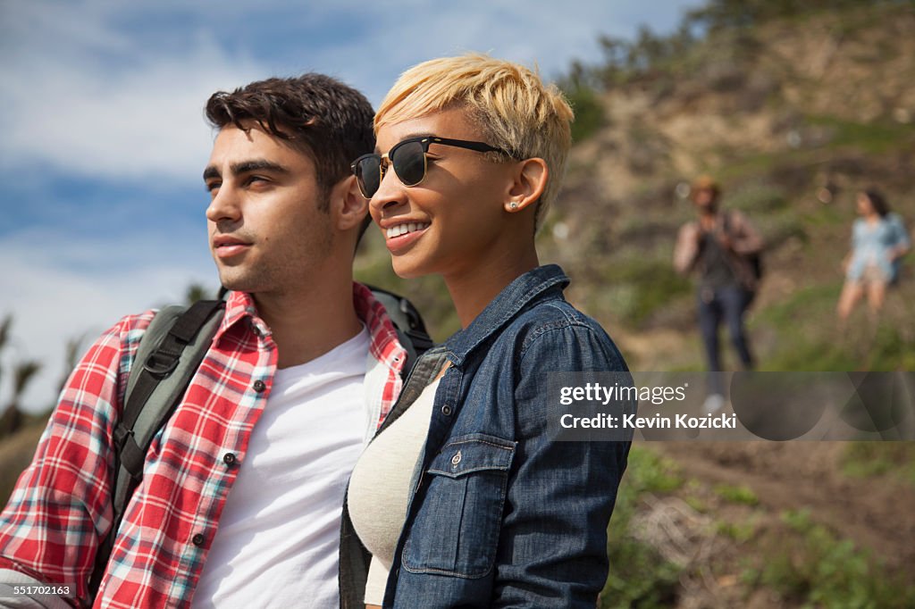
[{"label": "denim collar of the blonde woman's jacket", "polygon": [[539,266],[533,271],[525,272],[492,299],[489,305],[477,315],[470,325],[447,339],[448,358],[459,366],[470,351],[484,340],[495,334],[502,326],[521,313],[522,309],[532,303],[538,296],[554,286],[565,289],[569,278],[556,264]]}]

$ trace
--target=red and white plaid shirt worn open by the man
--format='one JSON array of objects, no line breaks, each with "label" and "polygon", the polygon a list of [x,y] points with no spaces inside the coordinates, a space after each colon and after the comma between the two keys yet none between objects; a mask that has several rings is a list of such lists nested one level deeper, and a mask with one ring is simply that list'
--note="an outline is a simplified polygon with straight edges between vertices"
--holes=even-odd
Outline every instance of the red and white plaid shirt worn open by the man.
[{"label": "red and white plaid shirt worn open by the man", "polygon": [[[401,390],[405,351],[367,288],[354,283],[353,301],[386,376],[383,418]],[[113,425],[153,315],[124,317],[73,371],[32,465],[0,515],[0,569],[70,585],[86,597],[96,549],[112,526]],[[275,369],[269,328],[249,295],[232,293],[184,401],[146,454],[95,606],[189,606],[239,471],[222,456],[231,452],[244,462]]]}]

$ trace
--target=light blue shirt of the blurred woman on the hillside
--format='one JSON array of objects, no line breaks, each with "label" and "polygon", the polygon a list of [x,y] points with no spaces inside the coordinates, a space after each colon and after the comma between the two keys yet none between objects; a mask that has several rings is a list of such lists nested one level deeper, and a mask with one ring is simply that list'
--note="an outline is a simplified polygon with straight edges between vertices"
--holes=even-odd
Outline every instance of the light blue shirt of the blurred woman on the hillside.
[{"label": "light blue shirt of the blurred woman on the hillside", "polygon": [[852,226],[852,260],[848,265],[847,279],[859,281],[868,266],[875,266],[888,283],[896,280],[899,260],[890,262],[890,253],[900,245],[910,247],[909,233],[898,215],[889,213],[876,224],[864,218]]}]

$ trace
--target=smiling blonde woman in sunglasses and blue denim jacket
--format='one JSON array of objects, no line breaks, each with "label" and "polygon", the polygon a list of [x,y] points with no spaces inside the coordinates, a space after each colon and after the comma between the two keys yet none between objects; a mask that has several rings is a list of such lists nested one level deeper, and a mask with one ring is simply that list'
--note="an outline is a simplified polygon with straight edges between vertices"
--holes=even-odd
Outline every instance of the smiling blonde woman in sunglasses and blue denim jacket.
[{"label": "smiling blonde woman in sunglasses and blue denim jacket", "polygon": [[[353,164],[372,219],[395,272],[444,277],[462,329],[416,364],[353,472],[372,559],[344,606],[595,606],[630,443],[551,439],[547,375],[627,368],[533,240],[571,120],[532,71],[479,55],[407,70],[375,116],[382,154]],[[360,585],[349,527],[341,591]]]}]

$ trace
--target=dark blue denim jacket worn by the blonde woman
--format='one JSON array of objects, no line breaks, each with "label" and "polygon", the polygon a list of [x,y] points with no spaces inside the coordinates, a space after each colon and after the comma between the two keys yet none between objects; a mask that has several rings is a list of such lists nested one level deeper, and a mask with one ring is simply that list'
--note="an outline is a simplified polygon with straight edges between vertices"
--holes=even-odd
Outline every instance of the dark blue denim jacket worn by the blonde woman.
[{"label": "dark blue denim jacket worn by the blonde woman", "polygon": [[[546,373],[626,371],[547,265],[523,274],[428,351],[379,433],[446,359],[394,551],[385,607],[593,608],[628,442],[552,442]],[[344,506],[340,604],[364,607],[367,555]]]}]

